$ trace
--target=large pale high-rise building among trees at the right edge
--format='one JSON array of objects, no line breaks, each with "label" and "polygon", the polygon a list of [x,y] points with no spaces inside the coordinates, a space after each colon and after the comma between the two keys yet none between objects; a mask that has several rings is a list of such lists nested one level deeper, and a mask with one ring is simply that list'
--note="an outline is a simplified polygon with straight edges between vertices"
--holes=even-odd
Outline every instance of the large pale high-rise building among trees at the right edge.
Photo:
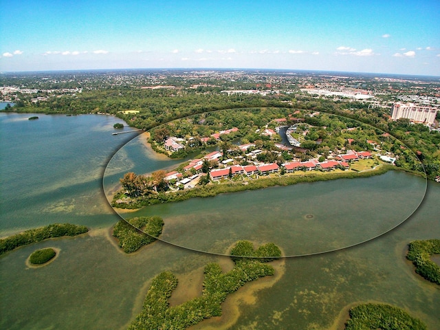
[{"label": "large pale high-rise building among trees at the right edge", "polygon": [[408,118],[411,122],[432,125],[439,109],[414,103],[395,102],[391,108],[391,119]]}]

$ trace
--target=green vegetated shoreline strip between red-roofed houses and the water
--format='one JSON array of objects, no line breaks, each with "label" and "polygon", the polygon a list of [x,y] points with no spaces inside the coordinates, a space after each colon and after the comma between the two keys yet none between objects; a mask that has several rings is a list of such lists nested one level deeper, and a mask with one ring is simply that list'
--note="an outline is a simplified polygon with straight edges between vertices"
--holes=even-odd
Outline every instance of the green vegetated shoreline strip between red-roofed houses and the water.
[{"label": "green vegetated shoreline strip between red-roofed houses and the water", "polygon": [[113,197],[111,206],[121,209],[137,209],[144,206],[154,205],[158,203],[170,203],[184,201],[193,197],[214,197],[228,192],[240,192],[245,190],[256,190],[261,188],[269,188],[274,186],[290,186],[303,182],[328,181],[335,179],[355,179],[362,177],[372,177],[373,175],[381,175],[388,170],[400,170],[395,166],[384,165],[374,170],[358,172],[358,173],[311,173],[306,175],[284,175],[277,177],[260,177],[250,181],[228,181],[221,184],[209,184],[188,190],[178,190],[177,192],[159,192],[149,195],[148,197],[139,197],[132,203],[115,203],[120,198],[121,191]]}]

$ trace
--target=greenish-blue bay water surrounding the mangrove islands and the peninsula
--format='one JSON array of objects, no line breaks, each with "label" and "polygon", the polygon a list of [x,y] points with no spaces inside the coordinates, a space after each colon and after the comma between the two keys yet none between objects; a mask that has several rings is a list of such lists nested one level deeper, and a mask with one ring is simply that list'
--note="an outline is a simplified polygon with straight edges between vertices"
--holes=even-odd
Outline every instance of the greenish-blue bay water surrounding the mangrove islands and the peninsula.
[{"label": "greenish-blue bay water surrounding the mangrove islands and the peninsula", "polygon": [[[112,159],[113,165],[105,170],[104,187],[114,186],[127,171],[147,173],[178,161],[158,157],[142,140],[124,146],[136,133],[112,135],[113,124],[120,122],[112,116],[30,116],[0,113],[0,236],[54,222],[85,224],[91,233],[0,257],[1,329],[124,329],[159,272],[170,270],[181,283],[190,283],[206,263],[228,260],[161,241],[130,256],[121,253],[109,236],[120,217],[102,189],[107,162]],[[226,300],[222,318],[195,329],[343,329],[344,308],[366,301],[404,308],[429,329],[439,329],[439,288],[415,275],[404,258],[409,241],[440,238],[439,184],[428,183],[426,198],[411,215],[424,187],[423,179],[393,171],[138,213],[162,215],[167,241],[216,253],[236,239],[278,240],[287,254],[331,250],[409,217],[355,248],[286,259],[284,274],[272,287],[255,292],[265,279],[246,285]],[[61,249],[58,258],[45,267],[28,267],[28,256],[46,246]]]}]

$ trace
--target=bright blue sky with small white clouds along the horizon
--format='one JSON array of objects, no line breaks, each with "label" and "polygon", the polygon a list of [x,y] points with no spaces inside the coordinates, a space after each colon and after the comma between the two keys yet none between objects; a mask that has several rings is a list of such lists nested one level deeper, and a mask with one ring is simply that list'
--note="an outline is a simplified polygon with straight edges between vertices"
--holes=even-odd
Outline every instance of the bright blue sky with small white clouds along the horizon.
[{"label": "bright blue sky with small white clouds along the horizon", "polygon": [[0,0],[0,72],[310,69],[440,76],[440,1]]}]

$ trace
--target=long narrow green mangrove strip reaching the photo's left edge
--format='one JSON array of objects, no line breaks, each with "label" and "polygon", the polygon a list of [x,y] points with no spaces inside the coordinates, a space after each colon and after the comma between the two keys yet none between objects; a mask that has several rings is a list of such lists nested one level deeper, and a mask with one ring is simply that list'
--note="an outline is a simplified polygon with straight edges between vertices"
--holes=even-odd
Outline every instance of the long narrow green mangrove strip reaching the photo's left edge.
[{"label": "long narrow green mangrove strip reaching the photo's left edge", "polygon": [[19,248],[19,246],[28,245],[62,236],[76,236],[88,232],[85,225],[72,225],[71,223],[54,223],[45,227],[26,230],[20,234],[15,234],[5,239],[0,239],[0,255]]}]

